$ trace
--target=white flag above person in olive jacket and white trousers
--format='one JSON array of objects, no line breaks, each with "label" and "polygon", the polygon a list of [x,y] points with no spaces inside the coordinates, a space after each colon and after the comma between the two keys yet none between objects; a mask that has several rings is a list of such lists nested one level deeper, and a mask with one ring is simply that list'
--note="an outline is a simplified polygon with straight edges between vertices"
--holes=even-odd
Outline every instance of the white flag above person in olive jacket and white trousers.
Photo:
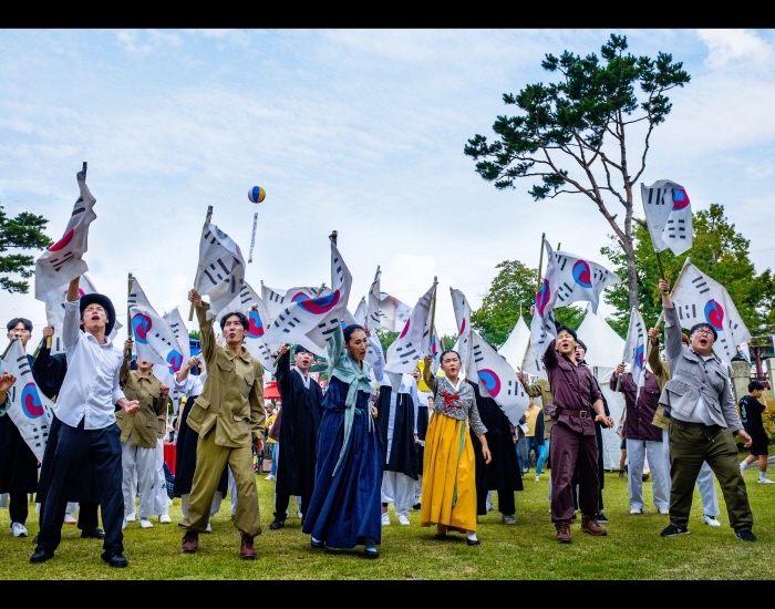
[{"label": "white flag above person in olive jacket and white trousers", "polygon": [[177,373],[185,363],[183,349],[169,323],[151,306],[140,281],[134,276],[127,306],[132,318],[137,359],[166,365],[170,373]]}]

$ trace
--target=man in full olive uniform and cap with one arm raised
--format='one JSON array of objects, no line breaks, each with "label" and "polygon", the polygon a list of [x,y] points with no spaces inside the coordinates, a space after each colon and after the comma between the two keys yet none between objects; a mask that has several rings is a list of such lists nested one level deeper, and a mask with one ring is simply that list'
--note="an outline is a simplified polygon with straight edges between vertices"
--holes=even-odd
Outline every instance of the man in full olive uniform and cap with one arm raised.
[{"label": "man in full olive uniform and cap with one arm raised", "polygon": [[240,558],[255,560],[254,537],[261,533],[261,522],[251,445],[259,454],[264,451],[264,369],[242,345],[249,328],[245,314],[230,312],[220,319],[226,347],[219,347],[213,318],[207,319],[209,306],[196,290],[188,292],[188,300],[197,308],[208,375],[186,421],[199,440],[188,516],[179,523],[186,529],[180,549],[189,554],[198,549],[199,533],[207,527],[213,496],[228,463],[237,483],[234,524],[241,533]]}]

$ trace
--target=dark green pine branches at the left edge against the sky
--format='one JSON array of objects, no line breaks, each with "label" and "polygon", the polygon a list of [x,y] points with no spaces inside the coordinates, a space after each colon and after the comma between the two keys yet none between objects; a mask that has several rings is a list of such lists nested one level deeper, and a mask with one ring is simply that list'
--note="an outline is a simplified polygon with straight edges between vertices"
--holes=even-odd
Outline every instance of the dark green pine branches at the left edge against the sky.
[{"label": "dark green pine branches at the left edge against the sky", "polygon": [[[22,211],[16,218],[9,218],[0,205],[0,254],[9,249],[45,249],[53,241],[43,234],[49,224],[43,216]],[[27,293],[32,277],[35,259],[23,254],[0,256],[0,289],[11,293]],[[21,280],[14,280],[11,275],[18,275]]]}]

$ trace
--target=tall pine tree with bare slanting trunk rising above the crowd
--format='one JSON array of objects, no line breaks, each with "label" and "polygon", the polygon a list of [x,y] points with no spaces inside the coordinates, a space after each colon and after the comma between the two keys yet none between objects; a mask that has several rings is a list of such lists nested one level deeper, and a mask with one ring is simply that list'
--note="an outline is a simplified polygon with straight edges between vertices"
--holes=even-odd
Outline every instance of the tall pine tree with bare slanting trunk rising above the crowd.
[{"label": "tall pine tree with bare slanting trunk rising above the crowd", "polygon": [[611,34],[600,49],[601,58],[569,51],[559,58],[547,54],[541,66],[559,72],[558,82],[504,94],[504,102],[521,113],[498,116],[493,125],[498,140],[490,144],[477,134],[464,152],[477,161],[476,172],[498,189],[516,188],[519,178],[535,178],[540,182],[529,190],[535,200],[560,194],[588,197],[620,241],[629,301],[638,306],[633,197],[653,130],[672,110],[665,92],[689,83],[691,76],[668,53],[660,52],[655,60],[636,58],[626,53],[627,48],[627,37]]}]

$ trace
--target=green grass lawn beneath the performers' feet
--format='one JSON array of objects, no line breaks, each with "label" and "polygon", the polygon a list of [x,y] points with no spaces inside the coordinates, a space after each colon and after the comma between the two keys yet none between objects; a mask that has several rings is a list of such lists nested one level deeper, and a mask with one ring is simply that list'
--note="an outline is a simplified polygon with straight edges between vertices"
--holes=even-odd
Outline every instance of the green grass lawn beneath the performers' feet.
[{"label": "green grass lawn beneath the performers' feet", "polygon": [[[557,544],[548,514],[547,476],[536,483],[529,475],[525,491],[517,494],[517,525],[502,524],[498,512],[480,517],[480,546],[468,547],[458,535],[434,540],[433,528],[420,528],[418,513],[410,515],[409,527],[397,525],[392,514],[393,524],[382,528],[378,560],[365,560],[362,548],[311,549],[296,518],[293,499],[286,528],[269,530],[273,483],[264,476],[258,488],[265,527],[256,538],[258,560],[252,562],[238,559],[239,534],[229,518],[228,500],[213,519],[213,534],[200,536],[196,555],[180,554],[183,531],[175,524],[159,525],[154,518],[149,530],[130,524],[124,531],[126,569],[102,562],[101,541],[80,539],[74,526],[63,527],[62,544],[52,560],[30,565],[38,517],[31,513],[30,537],[18,539],[9,534],[8,512],[0,510],[0,579],[771,579],[775,574],[775,485],[756,484],[756,477],[755,471],[745,473],[756,544],[735,539],[723,499],[723,526],[704,525],[696,493],[691,535],[663,539],[659,531],[668,517],[658,515],[650,504],[651,483],[644,484],[645,513],[631,516],[627,478],[614,473],[606,475],[603,492],[611,520],[606,525],[608,537],[582,535],[575,525],[572,544]],[[179,499],[170,515],[174,523],[179,519]]]}]

